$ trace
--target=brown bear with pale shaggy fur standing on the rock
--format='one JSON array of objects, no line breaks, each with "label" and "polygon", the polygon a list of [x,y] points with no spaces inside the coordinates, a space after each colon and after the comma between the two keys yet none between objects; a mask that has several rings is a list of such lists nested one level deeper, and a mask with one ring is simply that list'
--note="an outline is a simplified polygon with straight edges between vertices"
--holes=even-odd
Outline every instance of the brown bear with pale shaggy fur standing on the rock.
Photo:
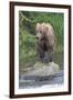
[{"label": "brown bear with pale shaggy fur standing on the rock", "polygon": [[41,61],[51,62],[55,50],[54,29],[50,23],[36,23],[36,52]]}]

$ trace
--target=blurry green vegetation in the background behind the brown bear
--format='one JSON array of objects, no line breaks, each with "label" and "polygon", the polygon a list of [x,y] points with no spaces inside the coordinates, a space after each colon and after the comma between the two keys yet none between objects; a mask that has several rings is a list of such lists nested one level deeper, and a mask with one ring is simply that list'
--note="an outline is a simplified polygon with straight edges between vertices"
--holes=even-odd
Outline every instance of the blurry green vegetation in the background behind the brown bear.
[{"label": "blurry green vegetation in the background behind the brown bear", "polygon": [[56,36],[56,51],[63,52],[64,17],[63,13],[19,11],[19,67],[32,67],[36,62],[35,24],[51,23]]}]

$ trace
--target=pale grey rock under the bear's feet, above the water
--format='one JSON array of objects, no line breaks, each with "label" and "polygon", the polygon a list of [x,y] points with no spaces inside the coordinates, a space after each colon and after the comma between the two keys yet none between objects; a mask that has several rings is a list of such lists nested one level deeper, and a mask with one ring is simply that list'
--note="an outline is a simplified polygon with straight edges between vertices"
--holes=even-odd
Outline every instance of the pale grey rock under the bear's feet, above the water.
[{"label": "pale grey rock under the bear's feet, above the water", "polygon": [[56,72],[59,72],[60,67],[59,64],[54,63],[54,62],[50,62],[50,63],[42,63],[42,62],[36,62],[33,66],[33,69],[27,71],[24,73],[24,76],[39,76],[39,77],[44,77],[44,76],[51,76],[51,74],[55,74]]}]

